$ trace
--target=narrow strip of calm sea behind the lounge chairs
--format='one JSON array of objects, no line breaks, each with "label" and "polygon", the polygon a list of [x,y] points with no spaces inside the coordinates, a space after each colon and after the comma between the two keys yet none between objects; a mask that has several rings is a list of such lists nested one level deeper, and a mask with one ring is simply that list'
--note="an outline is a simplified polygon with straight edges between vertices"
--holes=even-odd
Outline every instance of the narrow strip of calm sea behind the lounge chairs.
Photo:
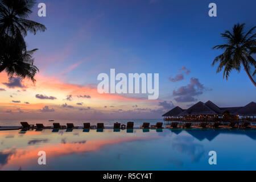
[{"label": "narrow strip of calm sea behind the lounge chairs", "polygon": [[113,127],[115,122],[125,124],[127,122],[134,122],[134,127],[142,126],[143,122],[149,122],[155,125],[156,122],[163,122],[162,119],[55,119],[54,122],[47,121],[46,119],[16,119],[16,120],[2,120],[0,119],[0,126],[20,126],[20,122],[27,121],[30,124],[43,123],[44,126],[52,126],[52,123],[60,123],[67,125],[67,123],[74,123],[75,126],[83,126],[83,123],[90,123],[97,125],[97,123],[104,123],[106,127]]}]

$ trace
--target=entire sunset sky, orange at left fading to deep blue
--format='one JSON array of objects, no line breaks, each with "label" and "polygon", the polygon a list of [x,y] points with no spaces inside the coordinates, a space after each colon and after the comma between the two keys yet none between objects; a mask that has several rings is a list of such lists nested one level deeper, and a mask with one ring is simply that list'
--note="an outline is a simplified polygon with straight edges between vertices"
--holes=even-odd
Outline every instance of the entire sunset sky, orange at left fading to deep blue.
[{"label": "entire sunset sky, orange at left fading to deep blue", "polygon": [[[41,0],[29,19],[47,31],[27,35],[40,72],[36,82],[0,73],[0,119],[161,118],[175,106],[196,102],[220,107],[256,101],[245,71],[228,80],[212,67],[220,34],[236,23],[255,26],[255,1]],[[38,3],[40,3],[38,1]],[[209,3],[217,17],[210,17]],[[255,57],[255,56],[254,56]],[[159,73],[159,98],[147,94],[100,94],[100,73]]]}]

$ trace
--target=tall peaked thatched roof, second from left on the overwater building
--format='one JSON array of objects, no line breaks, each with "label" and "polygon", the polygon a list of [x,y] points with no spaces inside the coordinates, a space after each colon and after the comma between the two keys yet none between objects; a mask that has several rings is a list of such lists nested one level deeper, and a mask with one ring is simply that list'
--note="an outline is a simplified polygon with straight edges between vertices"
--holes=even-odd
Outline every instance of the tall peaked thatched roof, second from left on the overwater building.
[{"label": "tall peaked thatched roof, second from left on the overwater building", "polygon": [[217,114],[214,110],[210,109],[203,102],[197,102],[197,104],[189,107],[187,110],[180,113],[180,115],[200,115],[200,114]]}]

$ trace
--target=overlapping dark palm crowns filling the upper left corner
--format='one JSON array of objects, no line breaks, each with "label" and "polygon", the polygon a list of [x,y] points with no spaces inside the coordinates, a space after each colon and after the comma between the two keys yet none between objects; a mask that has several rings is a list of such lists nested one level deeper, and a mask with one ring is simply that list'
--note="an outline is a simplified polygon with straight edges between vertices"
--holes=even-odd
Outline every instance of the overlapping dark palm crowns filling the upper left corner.
[{"label": "overlapping dark palm crowns filling the upper left corner", "polygon": [[24,36],[27,32],[36,34],[45,31],[43,24],[28,20],[35,0],[0,0],[0,72],[9,76],[28,77],[35,81],[35,67],[32,51],[27,51]]}]

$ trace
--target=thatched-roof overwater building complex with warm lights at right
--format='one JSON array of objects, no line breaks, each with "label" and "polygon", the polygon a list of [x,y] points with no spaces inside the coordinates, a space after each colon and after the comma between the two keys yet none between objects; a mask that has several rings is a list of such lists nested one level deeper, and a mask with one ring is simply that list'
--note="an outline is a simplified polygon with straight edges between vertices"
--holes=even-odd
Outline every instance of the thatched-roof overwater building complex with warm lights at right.
[{"label": "thatched-roof overwater building complex with warm lights at right", "polygon": [[212,101],[197,102],[188,109],[179,106],[163,114],[166,124],[172,122],[254,122],[256,115],[256,103],[251,102],[244,107],[218,107]]}]

